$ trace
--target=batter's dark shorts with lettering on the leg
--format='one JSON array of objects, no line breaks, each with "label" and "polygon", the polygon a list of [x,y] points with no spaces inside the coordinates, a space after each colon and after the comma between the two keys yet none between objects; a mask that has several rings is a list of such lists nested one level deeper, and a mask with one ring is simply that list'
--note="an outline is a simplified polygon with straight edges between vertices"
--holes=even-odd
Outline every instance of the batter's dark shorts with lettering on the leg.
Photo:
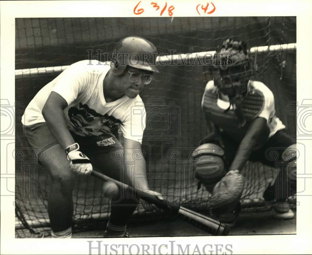
[{"label": "batter's dark shorts with lettering on the leg", "polygon": [[[38,150],[44,151],[58,144],[46,123],[25,126],[25,134],[29,145]],[[91,137],[81,137],[74,133],[71,133],[71,135],[75,142],[79,144],[80,151],[86,155],[109,153],[114,148],[122,148],[119,140],[111,132]]]}]

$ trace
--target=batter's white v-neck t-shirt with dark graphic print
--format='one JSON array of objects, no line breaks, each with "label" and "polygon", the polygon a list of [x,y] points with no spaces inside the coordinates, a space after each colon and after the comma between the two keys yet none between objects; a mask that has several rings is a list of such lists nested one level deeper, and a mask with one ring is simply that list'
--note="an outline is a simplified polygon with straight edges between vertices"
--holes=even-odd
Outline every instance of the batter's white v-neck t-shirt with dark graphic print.
[{"label": "batter's white v-neck t-shirt with dark graphic print", "polygon": [[54,91],[68,104],[64,114],[73,133],[98,136],[119,125],[124,138],[141,143],[146,121],[144,103],[139,95],[134,99],[123,96],[107,103],[103,81],[109,70],[109,62],[97,60],[72,64],[36,94],[25,109],[22,123],[28,126],[45,122],[41,111]]}]

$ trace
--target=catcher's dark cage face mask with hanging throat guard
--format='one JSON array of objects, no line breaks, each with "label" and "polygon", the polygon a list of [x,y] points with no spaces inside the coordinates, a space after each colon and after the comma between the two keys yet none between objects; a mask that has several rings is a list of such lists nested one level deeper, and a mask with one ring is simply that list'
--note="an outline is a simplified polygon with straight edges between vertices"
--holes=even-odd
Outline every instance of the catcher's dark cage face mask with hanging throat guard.
[{"label": "catcher's dark cage face mask with hanging throat guard", "polygon": [[[246,42],[227,39],[216,50],[213,59],[212,77],[214,84],[227,95],[239,121],[239,127],[246,120],[241,112],[241,100],[247,93],[247,84],[253,75],[252,59]],[[230,105],[230,107],[231,107]],[[225,111],[229,111],[230,107]]]}]

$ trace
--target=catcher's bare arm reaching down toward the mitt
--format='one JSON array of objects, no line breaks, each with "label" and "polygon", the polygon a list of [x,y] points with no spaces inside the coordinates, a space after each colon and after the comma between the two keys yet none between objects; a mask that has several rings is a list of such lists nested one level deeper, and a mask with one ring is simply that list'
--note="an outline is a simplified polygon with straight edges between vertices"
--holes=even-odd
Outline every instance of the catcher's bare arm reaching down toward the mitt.
[{"label": "catcher's bare arm reaching down toward the mitt", "polygon": [[235,158],[229,170],[238,169],[241,171],[256,145],[269,137],[270,130],[266,125],[266,122],[265,118],[258,117],[250,123],[247,133],[237,149]]}]

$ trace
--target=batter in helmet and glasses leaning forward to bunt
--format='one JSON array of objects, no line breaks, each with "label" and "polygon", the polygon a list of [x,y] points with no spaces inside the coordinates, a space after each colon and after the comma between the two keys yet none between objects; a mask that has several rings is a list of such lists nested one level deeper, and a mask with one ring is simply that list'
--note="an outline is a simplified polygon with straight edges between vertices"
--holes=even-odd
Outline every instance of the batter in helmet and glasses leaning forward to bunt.
[{"label": "batter in helmet and glasses leaning forward to bunt", "polygon": [[[130,55],[137,59],[131,60]],[[158,72],[156,55],[153,43],[142,37],[126,37],[117,43],[111,63],[83,60],[72,64],[27,106],[23,121],[27,140],[32,147],[42,148],[46,156],[40,163],[51,176],[48,214],[52,237],[71,237],[75,172],[88,175],[96,167],[111,178],[162,199],[160,193],[149,189],[144,158],[133,158],[134,154],[142,155],[145,128],[139,93]],[[141,114],[131,114],[135,103],[142,105]],[[118,127],[123,146],[114,135]],[[114,152],[122,158],[114,157]],[[140,178],[131,172],[133,161]],[[103,192],[115,201],[104,236],[124,237],[139,201],[128,189],[123,191],[126,196],[120,196],[112,182],[104,183]],[[153,205],[145,204],[145,208]]]}]

